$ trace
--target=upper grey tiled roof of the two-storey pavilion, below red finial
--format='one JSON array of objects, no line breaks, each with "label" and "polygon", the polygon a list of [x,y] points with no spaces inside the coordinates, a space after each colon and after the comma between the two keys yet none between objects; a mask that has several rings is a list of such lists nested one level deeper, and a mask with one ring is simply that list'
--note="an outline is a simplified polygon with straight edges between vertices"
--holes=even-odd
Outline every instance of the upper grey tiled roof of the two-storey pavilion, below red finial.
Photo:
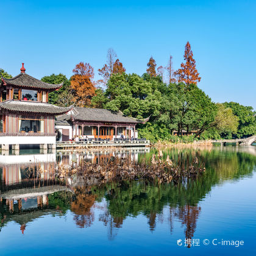
[{"label": "upper grey tiled roof of the two-storey pavilion, below red finial", "polygon": [[27,87],[27,88],[40,88],[48,90],[56,90],[62,87],[61,84],[48,84],[41,80],[36,79],[35,77],[29,76],[26,73],[20,73],[18,76],[7,79],[2,77],[2,84],[4,85],[14,85],[16,87]]}]

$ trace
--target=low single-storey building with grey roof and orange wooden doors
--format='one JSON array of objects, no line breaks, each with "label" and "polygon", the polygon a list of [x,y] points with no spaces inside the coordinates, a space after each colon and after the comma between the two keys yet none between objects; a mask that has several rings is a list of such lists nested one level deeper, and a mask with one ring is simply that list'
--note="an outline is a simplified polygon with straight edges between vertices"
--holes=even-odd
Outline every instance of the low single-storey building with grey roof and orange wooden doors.
[{"label": "low single-storey building with grey roof and orange wooden doors", "polygon": [[58,116],[55,128],[60,132],[60,141],[74,137],[101,138],[113,140],[137,138],[137,119],[102,108],[74,107],[66,115]]}]

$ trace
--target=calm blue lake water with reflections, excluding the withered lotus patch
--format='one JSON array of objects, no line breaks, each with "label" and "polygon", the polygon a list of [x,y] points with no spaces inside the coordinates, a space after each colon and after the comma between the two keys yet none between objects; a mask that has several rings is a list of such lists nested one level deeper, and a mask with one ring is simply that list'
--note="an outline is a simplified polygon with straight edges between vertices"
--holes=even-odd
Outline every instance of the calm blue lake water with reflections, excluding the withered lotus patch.
[{"label": "calm blue lake water with reflections, excluding the withered lotus patch", "polygon": [[[204,163],[197,180],[84,187],[56,165],[150,162],[157,149],[0,155],[0,255],[255,255],[256,147],[163,149]],[[33,178],[37,174],[37,179]]]}]

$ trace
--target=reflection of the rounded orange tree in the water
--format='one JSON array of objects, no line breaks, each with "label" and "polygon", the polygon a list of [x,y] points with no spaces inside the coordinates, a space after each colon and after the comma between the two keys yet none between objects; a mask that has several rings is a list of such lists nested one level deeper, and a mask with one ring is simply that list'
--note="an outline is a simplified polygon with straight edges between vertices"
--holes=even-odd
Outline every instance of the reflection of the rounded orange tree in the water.
[{"label": "reflection of the rounded orange tree in the water", "polygon": [[91,207],[94,204],[96,196],[90,194],[85,187],[74,189],[76,200],[71,203],[71,211],[75,213],[74,221],[79,227],[90,227],[94,221],[94,213]]}]

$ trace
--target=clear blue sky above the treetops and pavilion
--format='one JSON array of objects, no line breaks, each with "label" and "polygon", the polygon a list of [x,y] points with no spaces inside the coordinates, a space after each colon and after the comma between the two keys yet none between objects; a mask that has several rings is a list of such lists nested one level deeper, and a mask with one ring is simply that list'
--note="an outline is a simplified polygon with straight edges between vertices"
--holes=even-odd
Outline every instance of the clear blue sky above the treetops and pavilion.
[{"label": "clear blue sky above the treetops and pavilion", "polygon": [[256,110],[256,1],[6,1],[0,4],[0,68],[21,62],[40,79],[70,77],[79,62],[98,68],[113,48],[127,73],[143,74],[151,55],[174,69],[190,41],[198,84],[215,102]]}]

